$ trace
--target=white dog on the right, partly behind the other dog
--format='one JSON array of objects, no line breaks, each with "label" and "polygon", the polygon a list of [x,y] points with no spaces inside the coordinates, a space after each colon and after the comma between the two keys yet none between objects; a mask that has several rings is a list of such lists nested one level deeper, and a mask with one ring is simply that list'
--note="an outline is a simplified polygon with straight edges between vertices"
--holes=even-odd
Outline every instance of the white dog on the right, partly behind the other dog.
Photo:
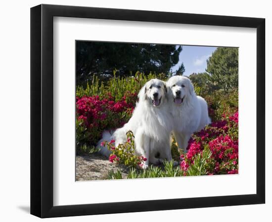
[{"label": "white dog on the right, partly behind the other dog", "polygon": [[[191,134],[211,123],[206,101],[196,96],[189,78],[175,75],[167,81],[171,112],[174,117],[174,136],[178,147],[186,152]],[[171,98],[172,97],[172,98]]]}]

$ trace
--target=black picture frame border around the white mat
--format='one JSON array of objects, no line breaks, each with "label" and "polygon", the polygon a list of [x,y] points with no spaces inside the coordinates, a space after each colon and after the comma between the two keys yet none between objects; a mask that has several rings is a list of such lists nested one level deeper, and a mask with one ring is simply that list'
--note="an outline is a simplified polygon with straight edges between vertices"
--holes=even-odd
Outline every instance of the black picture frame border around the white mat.
[{"label": "black picture frame border around the white mat", "polygon": [[[53,17],[257,28],[256,194],[53,206]],[[64,217],[265,203],[265,19],[41,4],[31,8],[31,214]]]}]

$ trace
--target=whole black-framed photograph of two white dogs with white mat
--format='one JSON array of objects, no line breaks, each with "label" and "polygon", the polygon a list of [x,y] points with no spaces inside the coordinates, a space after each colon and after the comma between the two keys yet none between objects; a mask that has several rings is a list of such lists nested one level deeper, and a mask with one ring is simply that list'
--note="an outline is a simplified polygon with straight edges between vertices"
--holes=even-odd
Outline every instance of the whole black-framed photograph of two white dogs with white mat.
[{"label": "whole black-framed photograph of two white dogs with white mat", "polygon": [[265,203],[265,19],[31,8],[31,214]]}]

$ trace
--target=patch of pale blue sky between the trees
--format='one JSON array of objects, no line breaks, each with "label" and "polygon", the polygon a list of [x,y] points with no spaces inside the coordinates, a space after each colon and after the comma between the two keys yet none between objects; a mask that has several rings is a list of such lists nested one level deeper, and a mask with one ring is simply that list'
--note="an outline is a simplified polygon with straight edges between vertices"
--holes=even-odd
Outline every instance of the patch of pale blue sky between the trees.
[{"label": "patch of pale blue sky between the trees", "polygon": [[211,46],[182,46],[180,61],[172,68],[172,71],[176,71],[183,62],[185,67],[184,75],[205,72],[207,68],[206,60],[212,55],[216,48],[217,47]]}]

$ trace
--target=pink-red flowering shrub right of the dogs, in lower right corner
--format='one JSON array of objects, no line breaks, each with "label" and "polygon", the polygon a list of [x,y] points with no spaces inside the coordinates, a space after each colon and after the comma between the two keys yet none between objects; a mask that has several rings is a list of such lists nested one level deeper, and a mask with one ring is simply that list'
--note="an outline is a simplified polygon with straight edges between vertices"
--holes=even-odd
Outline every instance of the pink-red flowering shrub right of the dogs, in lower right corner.
[{"label": "pink-red flowering shrub right of the dogs, in lower right corner", "polygon": [[181,155],[181,169],[184,176],[190,175],[190,166],[195,165],[196,158],[203,158],[203,150],[210,152],[203,169],[205,174],[238,173],[238,111],[222,120],[195,133],[189,140],[186,155]]}]

